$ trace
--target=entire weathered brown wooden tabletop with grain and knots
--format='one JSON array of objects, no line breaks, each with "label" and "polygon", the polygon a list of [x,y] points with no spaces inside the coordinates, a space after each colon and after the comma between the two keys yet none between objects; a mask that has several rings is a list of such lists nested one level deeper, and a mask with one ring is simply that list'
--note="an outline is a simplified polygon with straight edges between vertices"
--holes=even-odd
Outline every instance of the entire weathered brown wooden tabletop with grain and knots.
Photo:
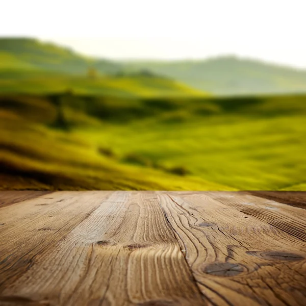
[{"label": "entire weathered brown wooden tabletop with grain and knots", "polygon": [[304,306],[305,199],[0,192],[0,305]]}]

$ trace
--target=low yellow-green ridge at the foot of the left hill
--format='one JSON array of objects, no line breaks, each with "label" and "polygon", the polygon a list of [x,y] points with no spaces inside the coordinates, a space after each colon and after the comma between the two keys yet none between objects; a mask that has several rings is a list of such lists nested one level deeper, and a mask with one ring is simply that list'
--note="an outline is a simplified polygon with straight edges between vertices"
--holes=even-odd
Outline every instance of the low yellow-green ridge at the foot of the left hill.
[{"label": "low yellow-green ridge at the foot of the left hill", "polygon": [[0,71],[0,93],[46,94],[67,90],[77,94],[114,96],[206,96],[180,82],[158,77],[97,77],[44,71]]}]

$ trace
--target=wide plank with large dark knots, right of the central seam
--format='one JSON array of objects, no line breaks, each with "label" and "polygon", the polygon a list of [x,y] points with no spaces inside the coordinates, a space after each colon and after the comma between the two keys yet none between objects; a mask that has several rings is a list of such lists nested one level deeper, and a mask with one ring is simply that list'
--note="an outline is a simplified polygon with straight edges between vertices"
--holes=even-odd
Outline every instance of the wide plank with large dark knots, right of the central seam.
[{"label": "wide plank with large dark knots, right of the central seam", "polygon": [[[159,196],[196,282],[212,304],[306,304],[302,235],[290,235],[264,217],[241,212],[237,193],[160,192]],[[256,203],[246,206],[257,208]],[[288,224],[301,230],[304,221],[281,206],[279,222],[286,215]]]}]

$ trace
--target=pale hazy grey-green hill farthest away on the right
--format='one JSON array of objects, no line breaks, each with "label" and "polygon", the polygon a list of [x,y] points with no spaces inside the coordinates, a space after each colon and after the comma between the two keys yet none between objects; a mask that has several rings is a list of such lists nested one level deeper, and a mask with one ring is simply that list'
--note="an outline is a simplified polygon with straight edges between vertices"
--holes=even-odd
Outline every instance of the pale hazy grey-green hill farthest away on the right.
[{"label": "pale hazy grey-green hill farthest away on the right", "polygon": [[216,95],[306,92],[306,71],[234,56],[202,61],[125,62],[129,71],[148,69]]}]

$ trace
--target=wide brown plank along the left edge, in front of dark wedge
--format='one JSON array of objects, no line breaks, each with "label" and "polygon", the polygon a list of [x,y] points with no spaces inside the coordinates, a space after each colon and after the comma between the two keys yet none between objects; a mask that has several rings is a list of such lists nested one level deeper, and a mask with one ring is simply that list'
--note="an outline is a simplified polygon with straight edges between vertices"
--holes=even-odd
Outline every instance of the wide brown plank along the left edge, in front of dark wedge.
[{"label": "wide brown plank along the left edge, in front of dark wedge", "polygon": [[0,293],[26,273],[110,192],[56,192],[0,209]]}]

